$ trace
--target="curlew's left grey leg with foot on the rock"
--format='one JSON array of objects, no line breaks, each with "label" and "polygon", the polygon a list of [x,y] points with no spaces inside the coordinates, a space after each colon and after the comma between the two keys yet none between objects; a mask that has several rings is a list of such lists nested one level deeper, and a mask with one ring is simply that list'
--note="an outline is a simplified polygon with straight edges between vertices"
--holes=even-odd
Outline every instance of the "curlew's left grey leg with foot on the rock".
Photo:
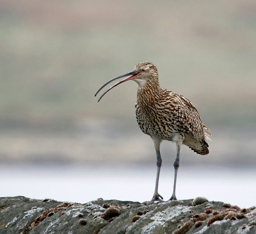
[{"label": "curlew's left grey leg with foot on the rock", "polygon": [[158,138],[153,138],[153,137],[152,137],[152,140],[154,141],[154,145],[155,145],[155,149],[156,149],[156,166],[157,166],[156,185],[155,185],[155,191],[154,191],[153,198],[147,204],[154,203],[154,201],[163,202],[163,197],[160,194],[158,194],[158,181],[159,181],[160,168],[162,165],[162,158],[161,158],[160,150],[159,150],[161,140]]}]

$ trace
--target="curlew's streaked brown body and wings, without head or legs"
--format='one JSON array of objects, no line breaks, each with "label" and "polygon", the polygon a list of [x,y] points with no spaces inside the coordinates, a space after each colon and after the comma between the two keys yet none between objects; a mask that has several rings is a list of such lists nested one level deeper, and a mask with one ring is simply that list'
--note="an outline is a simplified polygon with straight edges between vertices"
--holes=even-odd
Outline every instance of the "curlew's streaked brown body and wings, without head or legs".
[{"label": "curlew's streaked brown body and wings, without head or legs", "polygon": [[145,87],[139,88],[135,112],[145,134],[169,141],[180,135],[183,144],[197,154],[209,153],[205,140],[205,134],[210,135],[206,131],[209,129],[202,123],[196,107],[184,96],[166,89],[152,95]]}]

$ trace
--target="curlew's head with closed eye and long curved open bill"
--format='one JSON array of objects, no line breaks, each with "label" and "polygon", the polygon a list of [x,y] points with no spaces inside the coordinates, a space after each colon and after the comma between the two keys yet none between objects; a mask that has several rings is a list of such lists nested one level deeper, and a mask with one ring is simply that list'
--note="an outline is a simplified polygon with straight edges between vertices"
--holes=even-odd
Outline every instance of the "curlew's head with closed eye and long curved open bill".
[{"label": "curlew's head with closed eye and long curved open bill", "polygon": [[106,84],[104,84],[103,86],[100,87],[100,89],[96,92],[96,94],[94,96],[96,96],[98,94],[98,92],[101,89],[103,89],[106,85],[108,85],[112,81],[117,80],[117,79],[122,78],[122,77],[126,77],[126,78],[117,82],[116,84],[111,86],[107,91],[105,91],[100,96],[98,102],[109,90],[111,90],[112,88],[116,87],[116,85],[121,84],[121,83],[123,83],[127,80],[136,81],[139,84],[140,87],[142,87],[144,84],[146,84],[149,81],[158,82],[158,73],[157,73],[156,66],[151,62],[140,62],[134,67],[134,70],[132,70],[131,72],[109,80]]}]

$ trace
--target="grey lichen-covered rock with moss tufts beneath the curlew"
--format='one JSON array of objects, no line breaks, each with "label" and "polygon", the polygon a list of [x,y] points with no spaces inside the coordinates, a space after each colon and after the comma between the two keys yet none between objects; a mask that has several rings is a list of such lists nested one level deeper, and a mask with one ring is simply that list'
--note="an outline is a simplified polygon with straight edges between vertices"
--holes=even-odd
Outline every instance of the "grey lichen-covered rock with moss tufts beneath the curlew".
[{"label": "grey lichen-covered rock with moss tufts beneath the curlew", "polygon": [[[256,233],[256,207],[219,201],[168,201],[151,205],[102,200],[85,204],[0,198],[1,234],[212,234]],[[198,205],[196,205],[198,204]]]}]

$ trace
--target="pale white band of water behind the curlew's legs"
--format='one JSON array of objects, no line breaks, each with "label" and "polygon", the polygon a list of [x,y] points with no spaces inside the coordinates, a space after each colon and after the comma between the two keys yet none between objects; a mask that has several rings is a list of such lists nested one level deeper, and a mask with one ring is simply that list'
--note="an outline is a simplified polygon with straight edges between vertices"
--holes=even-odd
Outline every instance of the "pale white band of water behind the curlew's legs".
[{"label": "pale white band of water behind the curlew's legs", "polygon": [[[97,198],[146,201],[154,192],[156,167],[130,165],[2,165],[0,196],[22,195],[35,199],[86,203]],[[163,165],[159,194],[168,200],[172,194],[174,169]],[[256,205],[256,172],[252,168],[180,166],[178,199],[204,196],[240,208]]]}]

